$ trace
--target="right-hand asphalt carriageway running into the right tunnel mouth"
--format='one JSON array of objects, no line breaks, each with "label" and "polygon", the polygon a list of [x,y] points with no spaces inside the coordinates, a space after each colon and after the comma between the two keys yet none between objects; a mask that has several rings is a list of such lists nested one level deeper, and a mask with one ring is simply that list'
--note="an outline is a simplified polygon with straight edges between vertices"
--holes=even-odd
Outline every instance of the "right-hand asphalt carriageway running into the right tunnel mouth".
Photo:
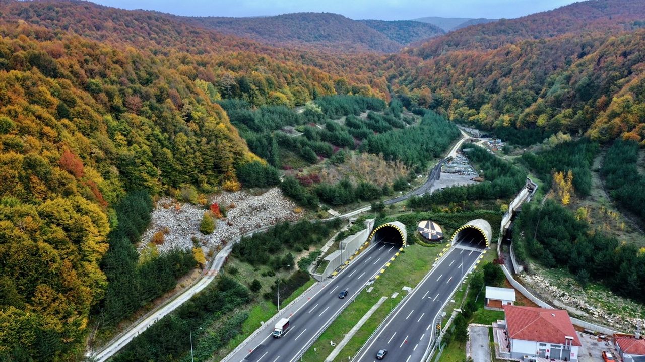
[{"label": "right-hand asphalt carriageway running into the right tunnel mouth", "polygon": [[435,317],[485,248],[481,234],[465,234],[397,307],[355,361],[376,361],[379,349],[385,348],[385,361],[420,362],[430,345]]}]

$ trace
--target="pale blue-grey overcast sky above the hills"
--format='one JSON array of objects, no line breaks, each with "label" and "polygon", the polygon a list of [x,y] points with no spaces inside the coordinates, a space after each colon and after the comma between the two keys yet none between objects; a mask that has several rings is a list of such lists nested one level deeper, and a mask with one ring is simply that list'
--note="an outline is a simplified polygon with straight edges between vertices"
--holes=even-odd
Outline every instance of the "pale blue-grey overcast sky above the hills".
[{"label": "pale blue-grey overcast sky above the hills", "polygon": [[93,0],[124,9],[177,15],[257,16],[333,12],[352,19],[399,20],[425,16],[519,17],[573,3],[572,0]]}]

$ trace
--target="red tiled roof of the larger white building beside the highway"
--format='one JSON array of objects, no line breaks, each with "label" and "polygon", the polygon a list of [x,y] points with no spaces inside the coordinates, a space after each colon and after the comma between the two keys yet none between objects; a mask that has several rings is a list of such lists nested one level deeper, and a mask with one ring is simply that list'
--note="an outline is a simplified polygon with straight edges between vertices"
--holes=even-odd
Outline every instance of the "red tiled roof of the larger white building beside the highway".
[{"label": "red tiled roof of the larger white building beside the highway", "polygon": [[564,345],[568,336],[582,346],[566,310],[504,305],[504,313],[509,338]]}]

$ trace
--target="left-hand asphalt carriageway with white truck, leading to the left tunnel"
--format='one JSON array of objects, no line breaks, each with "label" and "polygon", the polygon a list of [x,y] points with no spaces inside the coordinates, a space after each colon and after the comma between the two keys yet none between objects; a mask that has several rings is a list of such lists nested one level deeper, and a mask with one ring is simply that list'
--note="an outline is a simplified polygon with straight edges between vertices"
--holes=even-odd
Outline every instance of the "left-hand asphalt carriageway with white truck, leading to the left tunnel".
[{"label": "left-hand asphalt carriageway with white truck, leading to the left tunnel", "polygon": [[[335,278],[328,283],[321,283],[319,293],[307,301],[302,309],[293,316],[285,316],[290,318],[291,329],[282,338],[273,338],[268,334],[259,346],[253,346],[253,352],[244,357],[243,361],[293,362],[299,359],[310,343],[337,317],[343,305],[353,300],[400,247],[401,244],[393,240],[375,243]],[[343,289],[348,289],[349,295],[344,299],[338,298]],[[273,329],[270,332],[273,332]],[[342,336],[339,336],[338,340],[341,339]]]}]

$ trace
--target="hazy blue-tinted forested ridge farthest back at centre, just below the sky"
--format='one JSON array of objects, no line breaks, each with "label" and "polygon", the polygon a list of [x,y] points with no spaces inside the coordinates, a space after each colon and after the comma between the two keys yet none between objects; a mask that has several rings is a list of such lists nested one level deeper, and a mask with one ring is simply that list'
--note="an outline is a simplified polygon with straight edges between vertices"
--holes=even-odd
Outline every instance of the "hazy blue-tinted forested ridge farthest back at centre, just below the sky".
[{"label": "hazy blue-tinted forested ridge farthest back at centre, just below the sky", "polygon": [[301,12],[266,17],[177,17],[183,23],[284,46],[350,52],[397,52],[444,32],[419,21],[353,20],[339,14]]}]

